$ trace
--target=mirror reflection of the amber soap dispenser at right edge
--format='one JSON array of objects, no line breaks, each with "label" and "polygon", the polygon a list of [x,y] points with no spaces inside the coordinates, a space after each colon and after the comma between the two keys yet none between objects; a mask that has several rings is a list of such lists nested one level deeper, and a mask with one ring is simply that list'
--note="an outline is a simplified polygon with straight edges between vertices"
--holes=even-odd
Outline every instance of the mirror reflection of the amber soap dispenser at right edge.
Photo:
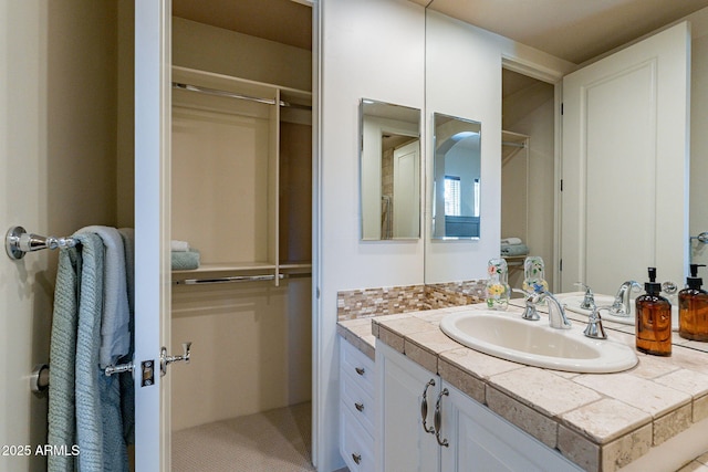
[{"label": "mirror reflection of the amber soap dispenser at right edge", "polygon": [[693,340],[708,340],[708,292],[700,286],[698,268],[706,264],[690,264],[687,287],[678,292],[678,334]]}]

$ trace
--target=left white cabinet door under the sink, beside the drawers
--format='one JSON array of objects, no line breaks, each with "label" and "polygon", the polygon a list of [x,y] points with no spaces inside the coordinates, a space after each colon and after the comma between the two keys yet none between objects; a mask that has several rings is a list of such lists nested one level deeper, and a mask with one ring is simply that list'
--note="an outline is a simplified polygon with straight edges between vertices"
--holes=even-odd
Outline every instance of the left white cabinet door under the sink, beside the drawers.
[{"label": "left white cabinet door under the sink, beside the drawers", "polygon": [[424,431],[420,405],[427,388],[426,427],[433,428],[433,410],[440,378],[406,359],[388,346],[376,343],[379,434],[378,470],[382,472],[436,472],[439,447],[435,434]]}]

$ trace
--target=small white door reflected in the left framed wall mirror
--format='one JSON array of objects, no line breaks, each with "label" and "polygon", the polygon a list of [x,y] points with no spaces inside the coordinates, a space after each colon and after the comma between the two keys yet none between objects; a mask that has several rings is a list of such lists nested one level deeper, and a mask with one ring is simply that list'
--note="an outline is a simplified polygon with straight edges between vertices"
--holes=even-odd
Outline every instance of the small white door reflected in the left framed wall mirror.
[{"label": "small white door reflected in the left framed wall mirror", "polygon": [[394,238],[420,234],[420,141],[394,150]]}]

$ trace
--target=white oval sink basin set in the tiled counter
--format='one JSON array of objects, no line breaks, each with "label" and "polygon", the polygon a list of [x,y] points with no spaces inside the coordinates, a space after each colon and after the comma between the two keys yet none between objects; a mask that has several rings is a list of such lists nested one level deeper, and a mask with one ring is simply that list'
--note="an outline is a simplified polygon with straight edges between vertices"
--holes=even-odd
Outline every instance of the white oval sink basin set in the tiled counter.
[{"label": "white oval sink basin set in the tiled counter", "polygon": [[521,319],[521,314],[467,311],[447,315],[440,329],[467,347],[490,356],[571,373],[618,373],[637,364],[633,348],[612,339],[591,339],[584,326],[554,329],[548,318]]}]

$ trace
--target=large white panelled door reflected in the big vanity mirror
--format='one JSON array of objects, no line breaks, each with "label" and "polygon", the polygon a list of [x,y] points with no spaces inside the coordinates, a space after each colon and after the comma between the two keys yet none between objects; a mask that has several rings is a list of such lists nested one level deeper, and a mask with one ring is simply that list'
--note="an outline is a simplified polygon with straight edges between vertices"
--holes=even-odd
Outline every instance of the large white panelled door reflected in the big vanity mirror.
[{"label": "large white panelled door reflected in the big vanity mirror", "polygon": [[681,23],[563,80],[561,290],[681,284],[690,32]]}]

